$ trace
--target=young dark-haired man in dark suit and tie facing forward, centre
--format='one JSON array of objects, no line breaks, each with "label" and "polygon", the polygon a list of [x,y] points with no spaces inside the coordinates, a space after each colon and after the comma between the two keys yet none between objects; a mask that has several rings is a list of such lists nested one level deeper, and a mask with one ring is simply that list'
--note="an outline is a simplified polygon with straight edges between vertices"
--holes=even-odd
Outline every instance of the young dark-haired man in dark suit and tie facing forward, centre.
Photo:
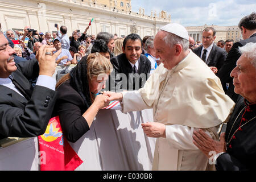
[{"label": "young dark-haired man in dark suit and tie facing forward, centre", "polygon": [[137,34],[123,40],[123,53],[110,59],[114,72],[110,74],[110,90],[138,90],[149,77],[151,63],[142,55],[142,39]]}]

